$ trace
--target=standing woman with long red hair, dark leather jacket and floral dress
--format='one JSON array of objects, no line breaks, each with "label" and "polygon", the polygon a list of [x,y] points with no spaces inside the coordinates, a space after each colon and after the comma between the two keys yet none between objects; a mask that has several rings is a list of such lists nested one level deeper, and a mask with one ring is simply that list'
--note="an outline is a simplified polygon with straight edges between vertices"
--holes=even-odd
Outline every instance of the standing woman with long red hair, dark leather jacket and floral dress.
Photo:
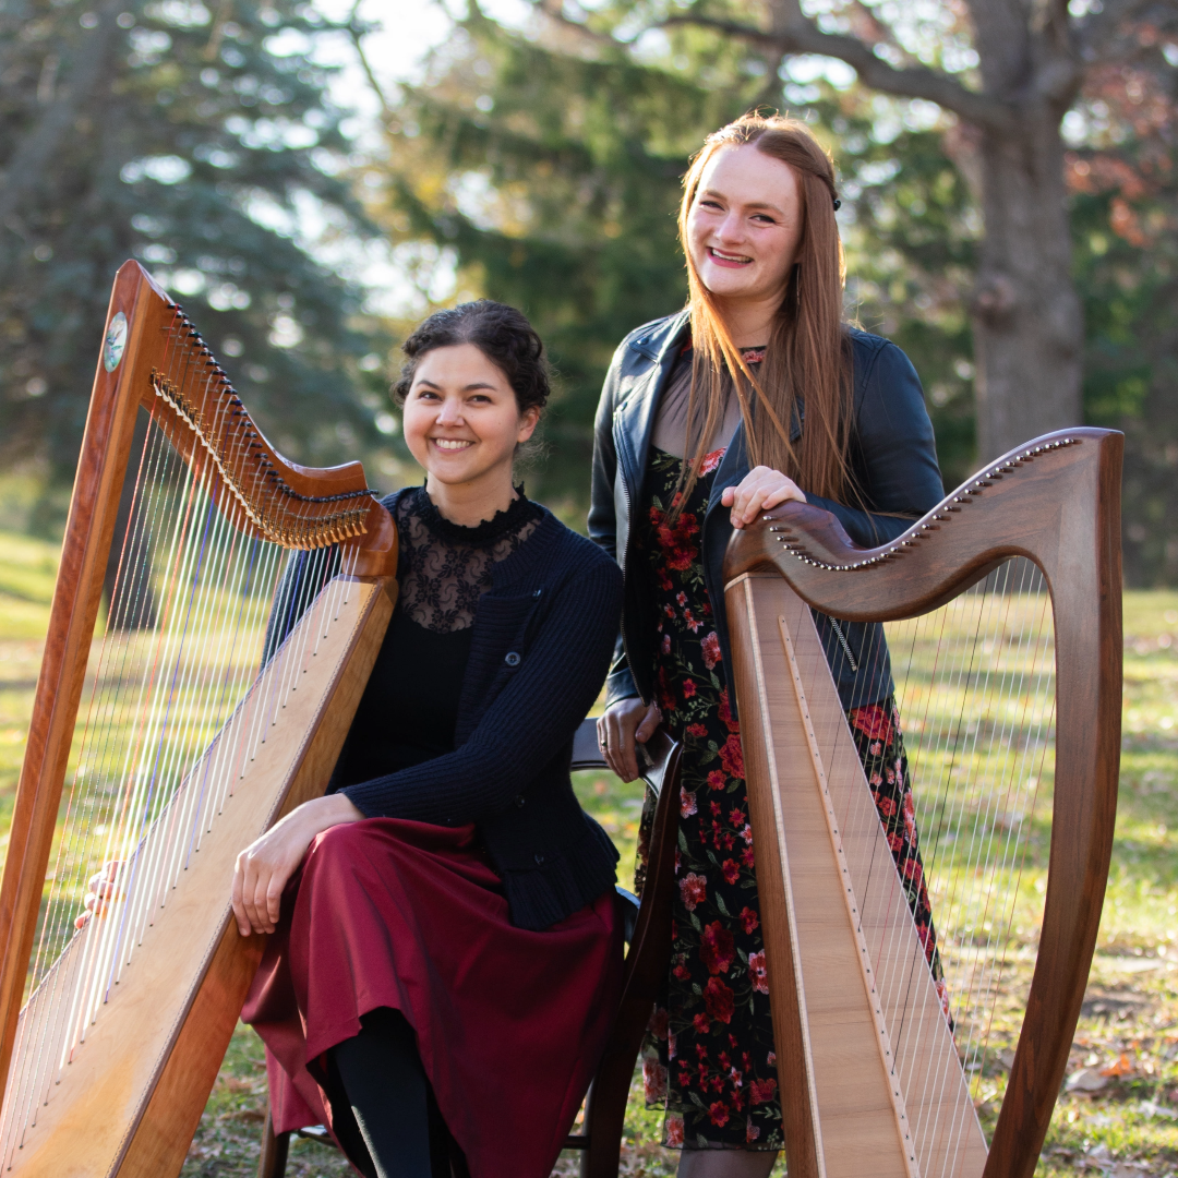
[{"label": "standing woman with long red hair, dark leather jacket and floral dress", "polygon": [[[690,1178],[768,1174],[782,1146],[724,548],[787,499],[878,544],[942,494],[912,365],[842,323],[838,205],[801,124],[746,117],[712,135],[680,213],[689,306],[623,340],[597,412],[589,532],[626,571],[602,748],[633,779],[660,715],[686,746],[671,968],[644,1070]],[[818,621],[935,973],[882,635]]]}]

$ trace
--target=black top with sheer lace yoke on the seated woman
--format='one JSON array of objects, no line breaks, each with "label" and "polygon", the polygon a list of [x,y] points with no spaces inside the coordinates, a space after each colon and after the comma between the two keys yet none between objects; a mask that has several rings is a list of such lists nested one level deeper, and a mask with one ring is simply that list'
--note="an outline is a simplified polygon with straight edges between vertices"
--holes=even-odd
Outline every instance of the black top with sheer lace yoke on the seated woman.
[{"label": "black top with sheer lace yoke on the seated woman", "polygon": [[454,750],[454,732],[478,598],[491,569],[540,525],[519,495],[475,528],[446,519],[424,488],[396,507],[401,594],[356,710],[337,788],[383,777]]}]

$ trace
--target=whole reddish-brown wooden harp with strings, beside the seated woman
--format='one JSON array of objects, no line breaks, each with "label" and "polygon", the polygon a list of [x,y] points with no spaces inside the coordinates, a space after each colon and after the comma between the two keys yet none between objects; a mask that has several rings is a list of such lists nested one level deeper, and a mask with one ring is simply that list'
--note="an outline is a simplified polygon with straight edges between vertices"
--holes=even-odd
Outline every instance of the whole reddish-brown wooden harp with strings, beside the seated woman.
[{"label": "whole reddish-brown wooden harp with strings, beside the seated woman", "polygon": [[[396,552],[360,464],[278,455],[128,262],[0,887],[5,1173],[179,1173],[263,948],[230,921],[234,859],[323,792]],[[284,581],[294,565],[322,575]],[[296,601],[292,580],[323,588]],[[105,863],[112,894],[75,932]]]}]

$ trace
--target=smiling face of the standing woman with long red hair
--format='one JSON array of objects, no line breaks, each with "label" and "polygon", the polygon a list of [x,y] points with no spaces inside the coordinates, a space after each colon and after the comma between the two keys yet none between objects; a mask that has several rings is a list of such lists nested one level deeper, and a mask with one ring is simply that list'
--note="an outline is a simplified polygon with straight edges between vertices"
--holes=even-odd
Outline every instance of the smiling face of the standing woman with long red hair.
[{"label": "smiling face of the standing woman with long red hair", "polygon": [[721,147],[700,176],[687,244],[719,299],[780,305],[802,234],[794,170],[748,144]]}]

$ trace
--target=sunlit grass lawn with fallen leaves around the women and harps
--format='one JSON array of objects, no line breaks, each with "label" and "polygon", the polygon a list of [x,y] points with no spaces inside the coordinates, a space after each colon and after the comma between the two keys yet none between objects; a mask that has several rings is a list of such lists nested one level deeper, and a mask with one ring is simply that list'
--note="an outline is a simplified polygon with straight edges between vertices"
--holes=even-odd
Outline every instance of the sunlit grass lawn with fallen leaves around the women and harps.
[{"label": "sunlit grass lawn with fallen leaves around the women and harps", "polygon": [[[7,843],[54,569],[54,549],[0,532],[0,854]],[[597,774],[580,774],[575,783],[584,807],[617,843],[618,878],[627,882],[633,878],[640,790]],[[1132,593],[1125,597],[1125,727],[1113,865],[1068,1068],[1073,1090],[1057,1106],[1037,1171],[1044,1178],[1178,1178],[1178,861],[1170,852],[1172,828],[1178,828],[1178,593]],[[1007,1018],[1015,1013],[1008,1011]],[[999,1034],[1002,1030],[995,1028]],[[1001,1063],[988,1061],[981,1099],[993,1100],[1004,1084]],[[184,1178],[257,1172],[265,1087],[260,1044],[252,1031],[238,1027]],[[660,1118],[642,1108],[640,1094],[636,1086],[622,1172],[671,1174],[677,1154],[657,1146]],[[557,1173],[573,1174],[576,1167],[570,1154]],[[292,1178],[350,1172],[322,1145],[292,1145]],[[783,1165],[775,1172],[783,1173]]]}]

